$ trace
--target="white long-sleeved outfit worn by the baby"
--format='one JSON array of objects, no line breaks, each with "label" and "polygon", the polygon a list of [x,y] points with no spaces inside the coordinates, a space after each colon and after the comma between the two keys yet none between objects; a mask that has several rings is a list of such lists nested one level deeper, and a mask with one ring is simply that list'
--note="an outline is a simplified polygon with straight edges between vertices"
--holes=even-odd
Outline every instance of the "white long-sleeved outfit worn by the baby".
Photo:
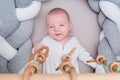
[{"label": "white long-sleeved outfit worn by the baby", "polygon": [[[79,67],[77,63],[77,58],[86,63],[86,60],[92,59],[89,53],[86,52],[79,40],[76,37],[72,37],[65,45],[64,49],[60,42],[52,39],[50,36],[46,36],[41,41],[41,44],[44,44],[49,47],[49,54],[45,63],[43,63],[43,73],[57,74],[60,71],[55,69],[61,63],[61,57],[64,54],[68,54],[74,47],[76,47],[75,53],[72,55],[72,64],[76,68],[77,73],[79,73]],[[79,56],[79,57],[78,57]],[[86,63],[87,64],[87,63]],[[96,64],[89,64],[95,68]]]}]

